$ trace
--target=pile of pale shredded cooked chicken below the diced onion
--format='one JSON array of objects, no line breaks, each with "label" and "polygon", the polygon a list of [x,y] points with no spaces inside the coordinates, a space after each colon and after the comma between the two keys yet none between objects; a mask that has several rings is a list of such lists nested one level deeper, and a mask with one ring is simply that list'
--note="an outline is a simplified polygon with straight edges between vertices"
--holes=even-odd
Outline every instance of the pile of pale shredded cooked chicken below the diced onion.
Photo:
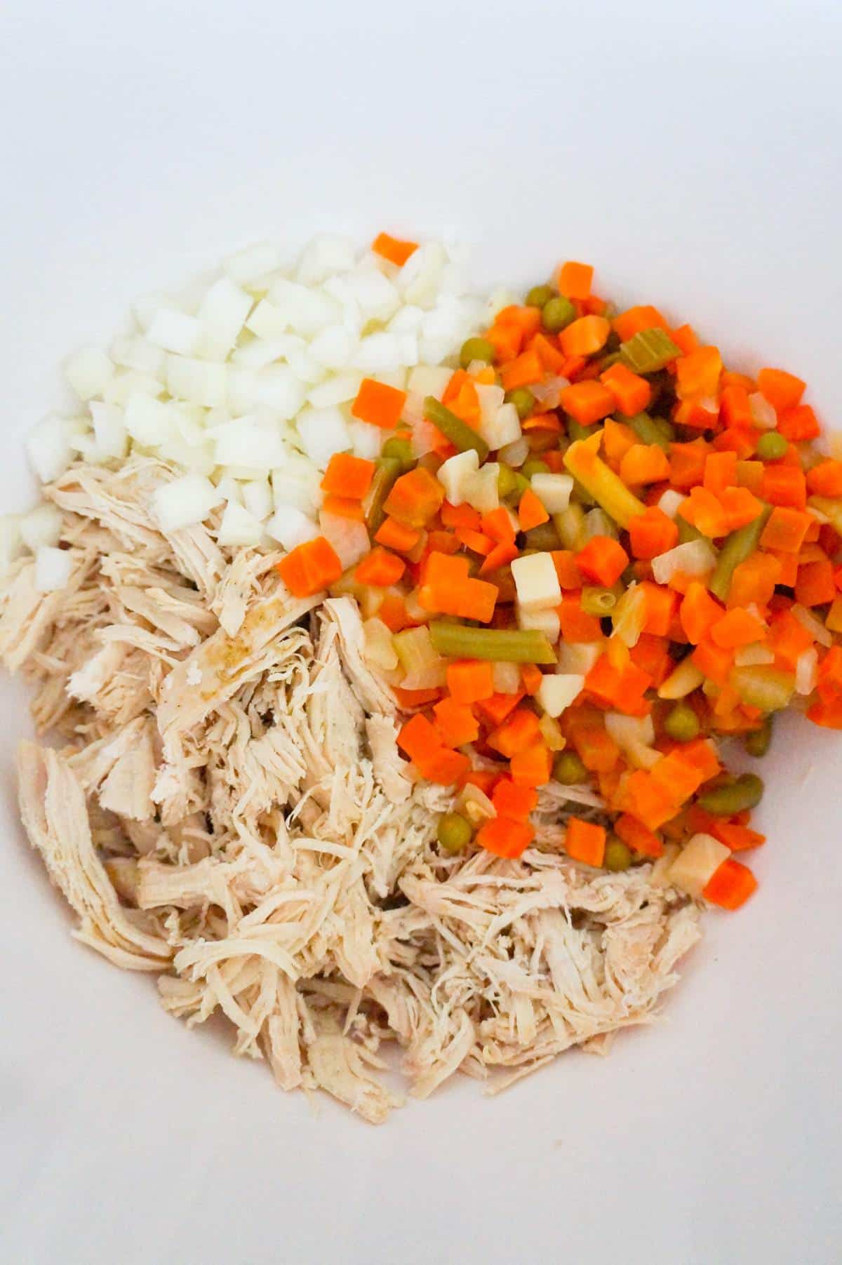
[{"label": "pile of pale shredded cooked chicken below the diced onion", "polygon": [[21,745],[21,817],[76,937],[154,972],[188,1023],[221,1011],[284,1089],[372,1122],[400,1102],[374,1075],[386,1042],[424,1098],[645,1022],[698,939],[694,903],[657,864],[564,856],[550,787],[522,858],[444,855],[448,792],[406,775],[354,601],[292,598],[281,555],[219,548],[212,516],[162,533],[148,506],[171,477],[72,467],[46,490],[67,586],[38,592],[25,558],[0,592],[0,655],[52,736]]}]

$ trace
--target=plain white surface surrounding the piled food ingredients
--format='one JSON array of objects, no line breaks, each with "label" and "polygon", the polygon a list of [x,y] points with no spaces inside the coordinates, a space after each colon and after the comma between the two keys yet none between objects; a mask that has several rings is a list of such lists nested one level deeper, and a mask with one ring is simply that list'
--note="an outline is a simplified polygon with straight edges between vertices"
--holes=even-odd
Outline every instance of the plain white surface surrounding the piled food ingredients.
[{"label": "plain white surface surrounding the piled food ingredients", "polygon": [[[6,0],[3,492],[56,366],[262,235],[453,225],[478,282],[561,258],[842,411],[838,3]],[[647,1265],[838,1260],[842,746],[770,758],[759,897],[668,1023],[497,1101],[314,1114],[68,937],[0,734],[0,1259]]]}]

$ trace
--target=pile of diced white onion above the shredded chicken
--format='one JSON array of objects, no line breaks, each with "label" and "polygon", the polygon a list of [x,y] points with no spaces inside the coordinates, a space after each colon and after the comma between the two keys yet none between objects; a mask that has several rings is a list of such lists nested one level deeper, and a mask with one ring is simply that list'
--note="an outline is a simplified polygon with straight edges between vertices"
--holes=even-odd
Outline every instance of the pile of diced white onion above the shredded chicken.
[{"label": "pile of diced white onion above the shredded chicken", "polygon": [[[322,235],[292,266],[269,242],[226,258],[214,280],[134,305],[107,352],[64,364],[80,409],[49,414],[27,439],[42,483],[75,460],[161,458],[177,477],[153,497],[163,530],[220,509],[220,545],[293,549],[324,531],[320,481],[331,455],[374,458],[382,431],[350,405],[364,377],[408,392],[420,457],[432,444],[422,400],[440,395],[463,342],[511,301],[467,292],[463,252],[429,242],[402,266]],[[61,516],[39,505],[0,519],[0,571],[24,550],[37,584],[63,587]]]}]

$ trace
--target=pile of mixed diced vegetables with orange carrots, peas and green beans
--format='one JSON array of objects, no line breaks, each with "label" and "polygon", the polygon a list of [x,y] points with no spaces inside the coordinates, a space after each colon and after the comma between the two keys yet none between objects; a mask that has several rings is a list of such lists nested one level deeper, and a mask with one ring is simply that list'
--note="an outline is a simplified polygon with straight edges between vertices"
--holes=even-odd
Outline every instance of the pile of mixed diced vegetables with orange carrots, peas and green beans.
[{"label": "pile of mixed diced vegetables with orange carrots, peas and green beans", "polygon": [[670,882],[737,908],[762,782],[728,774],[714,739],[760,756],[790,703],[842,729],[842,462],[813,445],[799,378],[731,372],[592,280],[563,264],[459,368],[416,369],[422,415],[365,379],[351,411],[381,455],[334,455],[321,484],[358,560],[321,535],[278,569],[298,596],[358,598],[412,713],[402,751],[454,788],[442,849],[518,856],[537,789],[588,786],[611,826],[571,816],[571,858],[668,849]]}]

